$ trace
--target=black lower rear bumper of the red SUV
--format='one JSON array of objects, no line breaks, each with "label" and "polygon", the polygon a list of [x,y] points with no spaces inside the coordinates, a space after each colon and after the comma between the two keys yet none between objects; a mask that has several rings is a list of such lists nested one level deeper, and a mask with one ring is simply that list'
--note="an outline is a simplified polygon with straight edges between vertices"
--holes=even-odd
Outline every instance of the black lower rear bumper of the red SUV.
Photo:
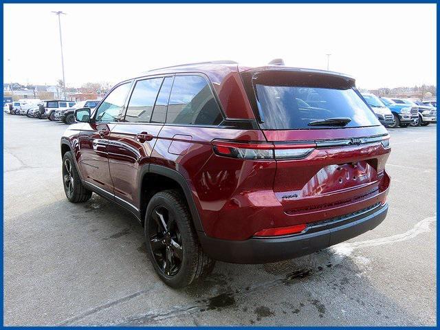
[{"label": "black lower rear bumper of the red SUV", "polygon": [[377,227],[386,217],[388,204],[355,212],[335,220],[311,223],[303,234],[245,241],[214,239],[200,234],[203,251],[212,259],[228,263],[272,263],[311,254],[347,241]]}]

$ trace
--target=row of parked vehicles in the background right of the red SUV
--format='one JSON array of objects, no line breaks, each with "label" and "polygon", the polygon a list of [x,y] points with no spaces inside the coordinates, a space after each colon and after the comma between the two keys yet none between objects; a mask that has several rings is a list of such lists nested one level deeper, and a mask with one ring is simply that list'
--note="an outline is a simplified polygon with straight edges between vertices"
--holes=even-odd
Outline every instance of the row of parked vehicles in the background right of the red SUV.
[{"label": "row of parked vehicles in the background right of the red SUV", "polygon": [[384,98],[370,93],[362,93],[362,96],[384,126],[427,126],[437,122],[437,101]]}]

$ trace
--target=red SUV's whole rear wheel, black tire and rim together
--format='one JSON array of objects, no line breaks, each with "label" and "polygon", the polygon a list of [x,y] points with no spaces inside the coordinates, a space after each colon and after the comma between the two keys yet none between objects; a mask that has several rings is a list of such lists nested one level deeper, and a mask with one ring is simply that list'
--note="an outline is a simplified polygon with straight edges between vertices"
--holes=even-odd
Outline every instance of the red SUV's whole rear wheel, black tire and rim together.
[{"label": "red SUV's whole rear wheel, black tire and rim together", "polygon": [[186,287],[214,269],[215,261],[201,249],[188,206],[178,190],[157,192],[151,198],[144,234],[148,258],[166,285]]}]

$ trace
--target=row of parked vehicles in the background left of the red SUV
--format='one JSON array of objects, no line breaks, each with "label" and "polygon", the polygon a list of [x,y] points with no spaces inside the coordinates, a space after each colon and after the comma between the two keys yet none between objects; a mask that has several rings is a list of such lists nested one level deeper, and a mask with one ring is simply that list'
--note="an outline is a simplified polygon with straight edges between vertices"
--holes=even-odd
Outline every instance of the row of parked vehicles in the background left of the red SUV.
[{"label": "row of parked vehicles in the background left of the red SUV", "polygon": [[11,115],[27,115],[29,118],[61,120],[65,124],[75,122],[74,111],[80,108],[94,109],[99,100],[85,100],[80,102],[66,100],[18,100],[6,103],[5,113]]}]

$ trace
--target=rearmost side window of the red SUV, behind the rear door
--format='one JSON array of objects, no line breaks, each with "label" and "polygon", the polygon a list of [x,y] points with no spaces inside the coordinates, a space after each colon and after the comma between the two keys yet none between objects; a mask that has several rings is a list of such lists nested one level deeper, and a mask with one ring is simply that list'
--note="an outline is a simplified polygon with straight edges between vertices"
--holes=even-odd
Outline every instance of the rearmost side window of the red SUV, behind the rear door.
[{"label": "rearmost side window of the red SUV, behind the rear door", "polygon": [[215,125],[222,120],[208,82],[201,76],[176,76],[166,122],[170,124]]}]

